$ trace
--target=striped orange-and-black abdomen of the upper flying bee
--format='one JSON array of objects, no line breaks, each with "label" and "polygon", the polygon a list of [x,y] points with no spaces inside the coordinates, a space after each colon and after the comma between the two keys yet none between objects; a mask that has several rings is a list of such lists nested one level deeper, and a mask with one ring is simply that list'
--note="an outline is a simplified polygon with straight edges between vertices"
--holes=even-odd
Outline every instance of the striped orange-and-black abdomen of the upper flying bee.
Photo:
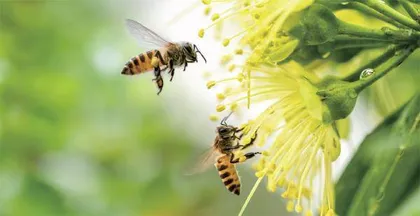
[{"label": "striped orange-and-black abdomen of the upper flying bee", "polygon": [[[134,75],[153,70],[154,66],[152,65],[152,59],[156,56],[156,52],[158,52],[158,50],[151,50],[134,56],[125,64],[121,74]],[[162,52],[160,52],[160,54],[163,55]],[[159,62],[159,66],[165,65],[160,58],[157,57],[156,59]]]}]

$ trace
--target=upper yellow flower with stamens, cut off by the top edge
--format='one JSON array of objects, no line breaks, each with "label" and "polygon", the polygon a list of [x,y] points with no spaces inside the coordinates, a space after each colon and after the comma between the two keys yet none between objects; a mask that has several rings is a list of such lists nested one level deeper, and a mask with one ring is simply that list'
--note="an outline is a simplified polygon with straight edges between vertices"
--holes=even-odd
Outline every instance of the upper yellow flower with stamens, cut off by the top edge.
[{"label": "upper yellow flower with stamens, cut off by the top edge", "polygon": [[[314,0],[225,0],[217,3],[230,5],[224,11],[212,15],[212,24],[201,29],[204,31],[226,20],[240,20],[242,31],[226,37],[222,44],[228,46],[232,39],[241,38],[242,45],[248,45],[252,52],[248,56],[250,63],[276,63],[287,58],[297,47],[299,41],[287,33],[299,22],[293,17],[310,6]],[[204,1],[211,4],[211,1]],[[216,6],[216,5],[215,5]],[[235,19],[239,18],[239,19]],[[275,50],[275,52],[272,52]]]}]

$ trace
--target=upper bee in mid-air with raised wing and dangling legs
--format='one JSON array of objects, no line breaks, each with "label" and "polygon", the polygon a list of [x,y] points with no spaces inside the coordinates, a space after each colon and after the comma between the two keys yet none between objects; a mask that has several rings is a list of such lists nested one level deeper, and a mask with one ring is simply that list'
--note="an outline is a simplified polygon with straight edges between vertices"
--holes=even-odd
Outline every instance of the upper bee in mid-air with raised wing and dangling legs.
[{"label": "upper bee in mid-air with raised wing and dangling legs", "polygon": [[185,71],[188,63],[198,62],[197,53],[207,63],[206,58],[195,44],[190,42],[169,42],[134,20],[127,19],[126,26],[128,31],[141,45],[148,47],[152,45],[155,49],[131,58],[125,64],[121,74],[135,75],[154,70],[155,78],[153,81],[156,82],[158,87],[158,95],[163,88],[161,72],[168,70],[168,73],[171,75],[170,81],[172,81],[175,74],[175,67],[184,66]]}]

